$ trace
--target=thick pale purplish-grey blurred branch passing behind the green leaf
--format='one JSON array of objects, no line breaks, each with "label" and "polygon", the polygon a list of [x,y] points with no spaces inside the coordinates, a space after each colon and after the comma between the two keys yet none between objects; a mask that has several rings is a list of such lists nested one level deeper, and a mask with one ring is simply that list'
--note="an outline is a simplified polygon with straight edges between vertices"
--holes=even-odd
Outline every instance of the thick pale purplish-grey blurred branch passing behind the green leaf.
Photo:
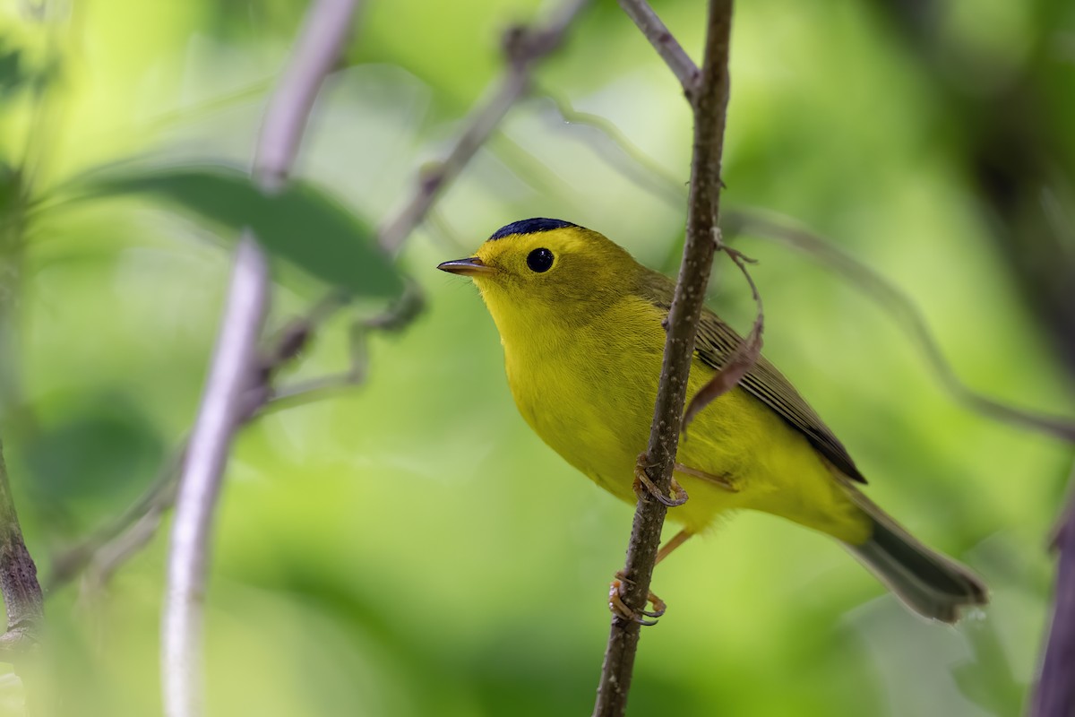
[{"label": "thick pale purplish-grey blurred branch passing behind the green leaf", "polygon": [[[357,0],[317,0],[262,125],[254,175],[278,189],[298,152],[318,88],[350,33]],[[249,231],[235,252],[213,364],[176,496],[161,625],[168,717],[203,714],[202,601],[213,515],[235,429],[258,378],[258,338],[269,303],[269,267]],[[244,411],[246,408],[246,411]]]}]

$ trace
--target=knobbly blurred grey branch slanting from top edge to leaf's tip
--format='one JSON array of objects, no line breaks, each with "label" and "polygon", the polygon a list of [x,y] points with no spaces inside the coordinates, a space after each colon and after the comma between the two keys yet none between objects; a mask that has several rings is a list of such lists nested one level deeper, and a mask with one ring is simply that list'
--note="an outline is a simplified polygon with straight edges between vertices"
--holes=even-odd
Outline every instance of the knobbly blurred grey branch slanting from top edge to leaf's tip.
[{"label": "knobbly blurred grey branch slanting from top edge to leaf's tip", "polygon": [[487,90],[486,99],[467,119],[465,129],[448,156],[418,177],[418,191],[381,229],[381,245],[399,252],[403,240],[426,218],[441,191],[486,143],[516,102],[530,89],[530,75],[538,60],[560,46],[568,28],[589,0],[564,0],[544,26],[515,27],[504,37],[507,67]]}]

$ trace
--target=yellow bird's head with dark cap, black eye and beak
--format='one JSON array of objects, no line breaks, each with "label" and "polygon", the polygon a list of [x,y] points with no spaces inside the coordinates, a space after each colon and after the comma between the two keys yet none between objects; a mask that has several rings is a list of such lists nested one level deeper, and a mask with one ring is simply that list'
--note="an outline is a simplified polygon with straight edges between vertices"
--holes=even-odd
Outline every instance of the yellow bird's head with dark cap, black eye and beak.
[{"label": "yellow bird's head with dark cap, black eye and beak", "polygon": [[639,264],[596,231],[561,219],[522,219],[498,229],[465,259],[438,269],[470,276],[493,319],[585,322],[633,289]]}]

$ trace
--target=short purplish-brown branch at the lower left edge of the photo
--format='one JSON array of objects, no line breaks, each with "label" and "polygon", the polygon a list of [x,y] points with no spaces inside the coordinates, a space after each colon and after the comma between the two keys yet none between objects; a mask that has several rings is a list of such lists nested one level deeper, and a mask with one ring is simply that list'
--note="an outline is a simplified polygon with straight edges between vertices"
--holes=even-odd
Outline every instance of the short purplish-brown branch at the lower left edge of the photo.
[{"label": "short purplish-brown branch at the lower left edge of the photo", "polygon": [[0,591],[8,611],[8,629],[0,634],[0,660],[17,662],[34,648],[44,627],[44,601],[38,569],[23,541],[15,513],[8,467],[0,443]]}]

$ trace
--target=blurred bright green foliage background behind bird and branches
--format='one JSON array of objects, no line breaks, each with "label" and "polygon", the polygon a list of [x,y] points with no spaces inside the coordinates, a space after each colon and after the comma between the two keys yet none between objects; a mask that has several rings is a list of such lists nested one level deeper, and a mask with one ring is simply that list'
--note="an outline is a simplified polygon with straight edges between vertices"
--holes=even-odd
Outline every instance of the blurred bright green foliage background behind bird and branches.
[{"label": "blurred bright green foliage background behind bird and branches", "polygon": [[[220,225],[261,223],[275,254],[305,268],[277,272],[274,326],[309,309],[318,278],[397,290],[368,228],[459,133],[499,70],[500,31],[547,8],[369,3],[307,130],[298,175],[310,189],[264,204],[238,177],[191,172],[190,158],[248,166],[302,3],[34,6],[0,11],[0,435],[47,575],[189,428],[228,276]],[[697,55],[700,3],[655,6]],[[1048,148],[1057,216],[1072,216],[1073,5],[742,2],[731,72],[727,205],[794,216],[870,263],[915,298],[970,385],[1071,413],[1054,344],[992,239],[1004,216],[983,201],[972,149],[995,127],[981,107],[1026,80],[1035,102],[1009,105]],[[690,116],[604,0],[535,88],[400,258],[427,313],[374,336],[362,387],[242,433],[207,594],[210,714],[590,708],[631,507],[518,418],[476,292],[433,268],[525,216],[576,221],[665,264],[682,242]],[[611,123],[673,178],[639,181],[605,134],[565,123],[543,91]],[[76,180],[133,157],[152,158],[157,180],[71,201]],[[1071,448],[957,405],[884,312],[823,264],[749,238],[740,247],[761,261],[766,355],[842,436],[871,496],[979,571],[993,604],[957,629],[926,625],[831,541],[737,516],[658,572],[671,611],[644,634],[631,714],[1017,714]],[[714,305],[745,328],[752,302],[729,269]],[[347,318],[282,381],[341,370]],[[166,533],[106,590],[75,582],[47,596],[35,714],[159,714]],[[18,680],[0,679],[0,714],[24,714],[20,699]]]}]

